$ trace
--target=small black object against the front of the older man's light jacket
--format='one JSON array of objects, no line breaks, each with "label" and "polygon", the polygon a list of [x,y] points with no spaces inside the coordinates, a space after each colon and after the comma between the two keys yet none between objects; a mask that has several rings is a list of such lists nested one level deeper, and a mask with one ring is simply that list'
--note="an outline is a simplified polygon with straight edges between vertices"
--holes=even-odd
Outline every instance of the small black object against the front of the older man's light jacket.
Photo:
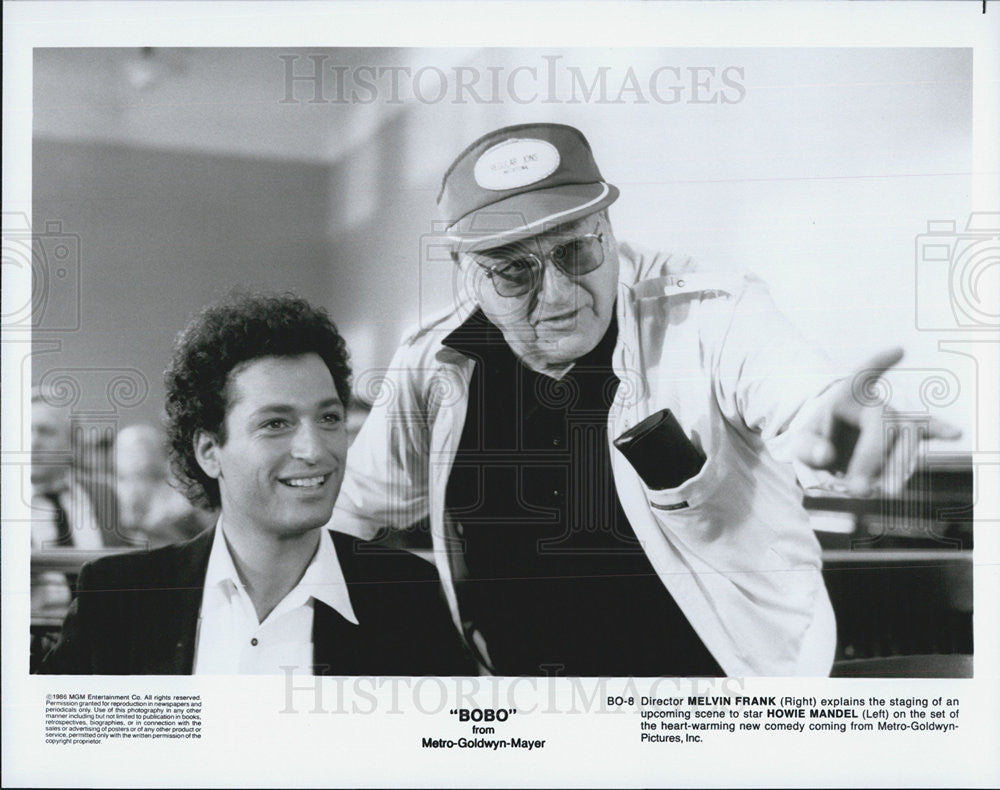
[{"label": "small black object against the front of the older man's light jacket", "polygon": [[629,428],[615,439],[615,447],[654,491],[677,488],[705,465],[705,454],[688,439],[670,409]]}]

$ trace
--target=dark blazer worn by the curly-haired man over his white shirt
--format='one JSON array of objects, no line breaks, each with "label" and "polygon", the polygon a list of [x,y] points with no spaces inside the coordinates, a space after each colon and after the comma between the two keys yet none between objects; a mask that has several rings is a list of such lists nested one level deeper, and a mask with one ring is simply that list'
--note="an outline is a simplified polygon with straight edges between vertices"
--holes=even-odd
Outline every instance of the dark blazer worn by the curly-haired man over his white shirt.
[{"label": "dark blazer worn by the curly-haired man over his white shirt", "polygon": [[[191,674],[214,533],[210,529],[186,543],[85,565],[60,641],[39,672]],[[476,673],[430,563],[349,535],[328,534],[360,625],[314,602],[314,674]]]}]

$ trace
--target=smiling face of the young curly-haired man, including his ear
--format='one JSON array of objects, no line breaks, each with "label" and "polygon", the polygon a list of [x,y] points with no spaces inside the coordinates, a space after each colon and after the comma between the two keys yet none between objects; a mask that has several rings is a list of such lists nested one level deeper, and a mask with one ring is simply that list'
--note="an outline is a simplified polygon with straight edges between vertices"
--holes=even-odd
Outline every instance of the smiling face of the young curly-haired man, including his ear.
[{"label": "smiling face of the young curly-haired man, including his ear", "polygon": [[219,482],[226,524],[293,537],[330,519],[347,460],[344,406],[317,354],[261,357],[227,384],[225,441],[201,432],[198,463]]}]

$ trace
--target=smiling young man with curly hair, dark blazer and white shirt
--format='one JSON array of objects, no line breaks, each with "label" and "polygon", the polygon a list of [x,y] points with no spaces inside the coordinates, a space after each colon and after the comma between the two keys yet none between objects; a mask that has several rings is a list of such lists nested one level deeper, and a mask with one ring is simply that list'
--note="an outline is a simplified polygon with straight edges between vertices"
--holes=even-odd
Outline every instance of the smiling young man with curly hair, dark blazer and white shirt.
[{"label": "smiling young man with curly hair, dark blazer and white shirt", "polygon": [[324,311],[287,295],[213,305],[165,384],[174,472],[218,522],[84,566],[42,672],[466,674],[433,567],[323,529],[350,397]]}]

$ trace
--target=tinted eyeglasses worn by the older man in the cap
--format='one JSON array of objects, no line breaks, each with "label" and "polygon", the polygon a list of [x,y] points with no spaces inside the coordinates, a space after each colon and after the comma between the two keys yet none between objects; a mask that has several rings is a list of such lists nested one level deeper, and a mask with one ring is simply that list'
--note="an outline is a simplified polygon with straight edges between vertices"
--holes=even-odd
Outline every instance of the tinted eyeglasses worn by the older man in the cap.
[{"label": "tinted eyeglasses worn by the older man in the cap", "polygon": [[545,261],[556,266],[567,277],[581,277],[604,263],[604,234],[587,233],[584,236],[556,244],[548,253],[539,257],[526,252],[523,245],[514,246],[509,252],[493,252],[489,260],[476,260],[486,270],[499,296],[524,296],[538,288],[542,282]]}]

